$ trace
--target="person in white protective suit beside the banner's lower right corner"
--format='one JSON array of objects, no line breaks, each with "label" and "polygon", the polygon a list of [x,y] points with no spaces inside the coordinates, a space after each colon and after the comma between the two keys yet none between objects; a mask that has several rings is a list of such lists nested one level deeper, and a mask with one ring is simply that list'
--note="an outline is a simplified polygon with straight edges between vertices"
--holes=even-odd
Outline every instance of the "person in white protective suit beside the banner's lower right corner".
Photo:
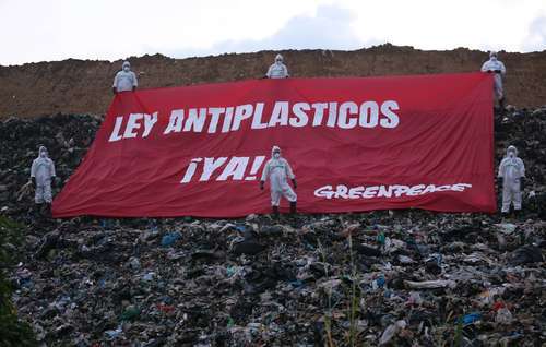
[{"label": "person in white protective suit beside the banner's lower right corner", "polygon": [[521,210],[521,178],[525,177],[525,166],[518,157],[518,149],[509,146],[507,156],[500,161],[499,176],[502,177],[502,213],[510,211],[510,203],[514,210]]}]

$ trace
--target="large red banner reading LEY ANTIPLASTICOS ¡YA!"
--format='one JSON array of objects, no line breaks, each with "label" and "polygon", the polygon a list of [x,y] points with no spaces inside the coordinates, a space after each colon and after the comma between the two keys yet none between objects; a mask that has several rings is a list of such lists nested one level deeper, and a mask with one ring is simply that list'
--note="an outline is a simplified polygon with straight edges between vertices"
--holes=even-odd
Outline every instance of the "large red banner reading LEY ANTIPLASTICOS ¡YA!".
[{"label": "large red banner reading LEY ANTIPLASTICOS \u00a1YA!", "polygon": [[[278,145],[298,211],[494,212],[484,73],[256,80],[116,96],[54,216],[269,213]],[[288,203],[281,203],[281,211]]]}]

